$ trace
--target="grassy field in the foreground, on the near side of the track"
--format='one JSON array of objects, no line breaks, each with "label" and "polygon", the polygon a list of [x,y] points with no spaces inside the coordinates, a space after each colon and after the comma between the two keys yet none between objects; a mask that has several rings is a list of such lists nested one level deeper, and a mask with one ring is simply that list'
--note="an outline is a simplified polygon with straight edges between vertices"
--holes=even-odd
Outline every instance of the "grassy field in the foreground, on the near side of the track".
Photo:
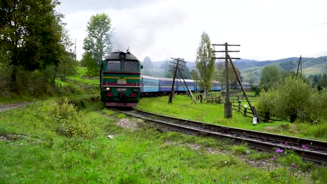
[{"label": "grassy field in the foreground, on the near side of the track", "polygon": [[[146,100],[143,98],[140,107]],[[81,103],[85,109],[52,99],[0,112],[0,183],[327,181],[326,167],[302,162],[287,151],[282,155],[259,153],[229,140],[159,132],[147,123],[103,108],[97,98],[84,98]],[[184,105],[177,107],[185,113]],[[194,107],[194,112],[199,107],[206,105]]]}]

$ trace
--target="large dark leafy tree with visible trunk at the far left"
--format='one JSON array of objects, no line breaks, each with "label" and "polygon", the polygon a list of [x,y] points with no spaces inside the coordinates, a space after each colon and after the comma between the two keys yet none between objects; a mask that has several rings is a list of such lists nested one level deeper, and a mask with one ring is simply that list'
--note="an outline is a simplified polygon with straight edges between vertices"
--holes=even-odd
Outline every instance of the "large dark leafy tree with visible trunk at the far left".
[{"label": "large dark leafy tree with visible trunk at the far left", "polygon": [[63,17],[54,11],[59,1],[0,1],[0,45],[10,55],[11,89],[17,69],[38,70],[57,66],[65,52],[62,43]]}]

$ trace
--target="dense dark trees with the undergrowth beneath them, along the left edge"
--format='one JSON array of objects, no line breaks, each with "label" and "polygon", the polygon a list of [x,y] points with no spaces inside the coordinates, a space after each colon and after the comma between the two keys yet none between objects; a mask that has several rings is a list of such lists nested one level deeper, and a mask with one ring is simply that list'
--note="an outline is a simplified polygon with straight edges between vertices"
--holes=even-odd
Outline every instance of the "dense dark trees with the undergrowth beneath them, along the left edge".
[{"label": "dense dark trees with the undergrowth beneath them, along the left edge", "polygon": [[0,97],[44,95],[58,75],[75,72],[75,55],[57,0],[0,1]]}]

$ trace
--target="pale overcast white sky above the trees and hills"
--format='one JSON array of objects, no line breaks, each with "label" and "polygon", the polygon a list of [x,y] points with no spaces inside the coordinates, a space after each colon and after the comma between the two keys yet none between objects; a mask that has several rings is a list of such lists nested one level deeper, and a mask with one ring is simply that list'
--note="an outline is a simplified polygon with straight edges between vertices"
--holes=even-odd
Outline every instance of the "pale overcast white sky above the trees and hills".
[{"label": "pale overcast white sky above the trees and hills", "polygon": [[231,56],[262,61],[327,56],[326,7],[326,0],[61,0],[57,11],[77,40],[78,59],[90,17],[106,13],[117,49],[129,47],[140,61],[194,61],[203,31],[212,43],[241,45]]}]

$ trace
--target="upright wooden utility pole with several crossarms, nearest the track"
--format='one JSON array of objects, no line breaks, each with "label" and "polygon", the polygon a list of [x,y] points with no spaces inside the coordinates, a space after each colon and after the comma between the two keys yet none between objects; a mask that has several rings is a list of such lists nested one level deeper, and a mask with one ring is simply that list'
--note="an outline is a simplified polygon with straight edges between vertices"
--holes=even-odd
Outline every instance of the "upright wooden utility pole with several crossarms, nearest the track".
[{"label": "upright wooden utility pole with several crossarms, nearest the track", "polygon": [[[225,83],[226,83],[226,98],[225,98],[225,118],[231,118],[232,116],[232,105],[229,101],[229,76],[228,76],[228,52],[240,52],[239,50],[228,50],[228,46],[240,46],[240,45],[228,45],[225,44],[212,44],[212,46],[225,46],[225,50],[212,52],[225,52],[225,57],[215,57],[214,59],[225,59]],[[240,58],[230,58],[230,59],[240,59]]]}]

